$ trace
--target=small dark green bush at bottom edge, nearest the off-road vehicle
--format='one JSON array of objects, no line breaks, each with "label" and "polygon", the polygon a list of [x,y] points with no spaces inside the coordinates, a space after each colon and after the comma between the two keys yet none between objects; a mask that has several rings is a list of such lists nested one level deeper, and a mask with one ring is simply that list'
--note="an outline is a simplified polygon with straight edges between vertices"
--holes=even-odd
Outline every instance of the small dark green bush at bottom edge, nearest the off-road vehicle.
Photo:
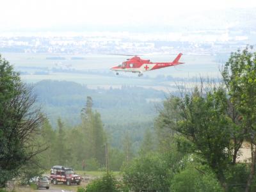
[{"label": "small dark green bush at bottom edge, nearest the off-road vehicle", "polygon": [[111,173],[106,173],[100,179],[95,179],[86,186],[86,192],[115,192],[118,182]]}]

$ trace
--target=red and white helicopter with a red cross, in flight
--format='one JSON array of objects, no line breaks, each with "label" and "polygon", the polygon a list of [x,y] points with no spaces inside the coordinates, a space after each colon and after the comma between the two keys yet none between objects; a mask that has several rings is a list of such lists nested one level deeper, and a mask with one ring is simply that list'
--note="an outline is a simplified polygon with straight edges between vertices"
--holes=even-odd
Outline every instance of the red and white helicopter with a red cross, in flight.
[{"label": "red and white helicopter with a red cross, in flight", "polygon": [[180,57],[182,56],[182,53],[179,53],[178,56],[173,60],[172,62],[161,62],[161,63],[152,63],[150,60],[141,60],[140,57],[134,56],[131,59],[127,59],[127,61],[124,61],[122,64],[117,65],[115,67],[110,68],[110,70],[115,70],[116,75],[118,75],[120,71],[124,72],[133,72],[139,73],[139,77],[143,76],[143,72],[146,72],[148,70],[155,70],[159,68],[164,67],[171,67],[174,65],[180,65],[183,63],[180,63]]}]

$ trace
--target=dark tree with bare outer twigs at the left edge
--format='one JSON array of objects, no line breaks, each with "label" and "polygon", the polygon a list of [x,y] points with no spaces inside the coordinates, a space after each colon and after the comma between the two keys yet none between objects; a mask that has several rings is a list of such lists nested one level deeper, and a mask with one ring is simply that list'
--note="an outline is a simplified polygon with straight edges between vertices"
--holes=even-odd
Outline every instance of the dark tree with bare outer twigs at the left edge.
[{"label": "dark tree with bare outer twigs at the left edge", "polygon": [[0,187],[18,174],[42,146],[33,143],[33,136],[42,122],[35,96],[12,65],[0,55]]}]

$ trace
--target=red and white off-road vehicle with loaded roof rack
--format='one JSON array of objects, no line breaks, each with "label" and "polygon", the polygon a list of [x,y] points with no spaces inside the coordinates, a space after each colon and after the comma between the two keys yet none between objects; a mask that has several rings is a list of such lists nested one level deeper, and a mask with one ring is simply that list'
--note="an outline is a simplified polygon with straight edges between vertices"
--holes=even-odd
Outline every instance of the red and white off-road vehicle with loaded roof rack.
[{"label": "red and white off-road vehicle with loaded roof rack", "polygon": [[51,168],[51,182],[56,185],[58,182],[63,182],[70,186],[71,184],[79,185],[81,176],[77,175],[72,168],[56,165]]}]

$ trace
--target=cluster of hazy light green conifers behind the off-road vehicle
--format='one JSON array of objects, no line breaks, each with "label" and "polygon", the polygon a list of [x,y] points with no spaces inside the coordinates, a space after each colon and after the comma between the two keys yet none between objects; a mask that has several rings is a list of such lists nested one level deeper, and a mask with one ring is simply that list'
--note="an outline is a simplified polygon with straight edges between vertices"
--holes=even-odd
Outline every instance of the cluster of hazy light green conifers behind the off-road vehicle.
[{"label": "cluster of hazy light green conifers behind the off-road vehicle", "polygon": [[[89,104],[90,102],[90,104]],[[90,108],[90,109],[87,109]],[[92,98],[81,112],[82,124],[68,127],[61,118],[57,120],[57,130],[53,130],[49,120],[44,118],[38,141],[47,141],[48,150],[40,154],[40,162],[46,169],[60,164],[72,166],[76,170],[99,170],[105,166],[106,134],[100,114],[92,109]]]}]

